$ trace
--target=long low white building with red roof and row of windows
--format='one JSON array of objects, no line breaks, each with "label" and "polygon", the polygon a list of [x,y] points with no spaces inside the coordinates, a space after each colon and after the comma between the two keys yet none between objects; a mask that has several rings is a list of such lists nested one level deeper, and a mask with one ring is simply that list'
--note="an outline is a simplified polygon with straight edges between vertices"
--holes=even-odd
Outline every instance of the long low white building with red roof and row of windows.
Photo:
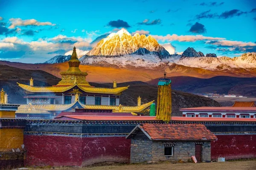
[{"label": "long low white building with red roof and row of windows", "polygon": [[256,118],[256,107],[192,107],[180,111],[183,117]]}]

